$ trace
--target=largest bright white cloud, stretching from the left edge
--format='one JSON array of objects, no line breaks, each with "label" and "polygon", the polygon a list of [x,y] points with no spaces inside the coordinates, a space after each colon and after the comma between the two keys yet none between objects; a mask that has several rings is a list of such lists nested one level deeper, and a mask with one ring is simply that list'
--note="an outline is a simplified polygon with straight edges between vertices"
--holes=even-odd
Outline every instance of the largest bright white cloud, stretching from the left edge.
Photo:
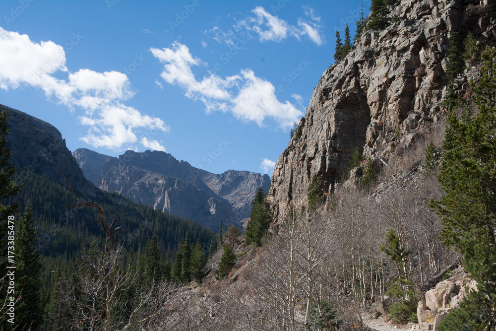
[{"label": "largest bright white cloud, stretching from the left edge", "polygon": [[[53,76],[59,71],[67,72],[67,78]],[[122,103],[134,94],[124,73],[90,69],[68,72],[62,46],[52,41],[37,44],[27,35],[0,27],[0,88],[7,90],[23,84],[43,89],[48,97],[55,96],[71,109],[84,109],[79,120],[90,129],[81,140],[95,147],[119,149],[138,141],[136,133],[141,130],[169,131],[161,119],[142,115]],[[147,143],[145,147],[163,149],[154,140],[140,140],[143,141]]]}]

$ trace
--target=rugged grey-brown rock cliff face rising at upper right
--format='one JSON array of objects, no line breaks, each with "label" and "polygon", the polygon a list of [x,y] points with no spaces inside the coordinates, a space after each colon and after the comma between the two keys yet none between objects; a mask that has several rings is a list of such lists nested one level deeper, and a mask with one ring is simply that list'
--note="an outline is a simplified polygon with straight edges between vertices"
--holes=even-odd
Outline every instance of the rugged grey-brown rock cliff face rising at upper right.
[{"label": "rugged grey-brown rock cliff face rising at upper right", "polygon": [[[395,1],[396,2],[396,1]],[[443,116],[448,37],[472,32],[495,46],[496,10],[489,0],[401,0],[394,21],[362,34],[313,90],[298,133],[276,162],[268,202],[276,218],[307,204],[311,178],[330,193],[348,171],[356,146],[387,162]],[[470,79],[466,70],[464,83]]]}]

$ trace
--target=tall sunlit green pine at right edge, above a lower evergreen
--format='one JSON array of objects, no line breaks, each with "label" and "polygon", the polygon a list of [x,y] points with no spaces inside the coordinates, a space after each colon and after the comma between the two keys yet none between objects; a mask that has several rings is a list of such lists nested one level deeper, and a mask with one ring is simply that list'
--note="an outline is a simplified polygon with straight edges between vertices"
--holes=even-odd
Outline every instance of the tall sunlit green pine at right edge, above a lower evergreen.
[{"label": "tall sunlit green pine at right edge, above a lower evergreen", "polygon": [[479,84],[471,83],[472,99],[479,110],[475,119],[460,121],[454,111],[447,116],[443,157],[438,175],[446,195],[432,201],[442,217],[440,239],[448,247],[464,251],[463,239],[476,225],[493,234],[496,219],[496,77],[493,52],[483,53]]}]

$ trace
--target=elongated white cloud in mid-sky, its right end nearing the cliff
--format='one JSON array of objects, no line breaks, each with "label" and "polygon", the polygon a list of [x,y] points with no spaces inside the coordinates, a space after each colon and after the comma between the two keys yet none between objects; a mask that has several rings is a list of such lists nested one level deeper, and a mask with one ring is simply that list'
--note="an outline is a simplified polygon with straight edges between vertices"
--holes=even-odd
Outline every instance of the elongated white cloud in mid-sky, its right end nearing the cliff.
[{"label": "elongated white cloud in mid-sky, its right end nearing the cliff", "polygon": [[201,100],[207,113],[231,111],[237,119],[253,121],[259,126],[268,117],[282,128],[290,128],[303,116],[303,112],[289,101],[280,102],[275,95],[274,85],[256,77],[250,69],[225,78],[210,73],[198,80],[191,67],[202,65],[203,62],[193,58],[185,45],[175,42],[171,48],[152,48],[150,51],[164,64],[160,76],[170,84],[183,87],[188,98]]}]

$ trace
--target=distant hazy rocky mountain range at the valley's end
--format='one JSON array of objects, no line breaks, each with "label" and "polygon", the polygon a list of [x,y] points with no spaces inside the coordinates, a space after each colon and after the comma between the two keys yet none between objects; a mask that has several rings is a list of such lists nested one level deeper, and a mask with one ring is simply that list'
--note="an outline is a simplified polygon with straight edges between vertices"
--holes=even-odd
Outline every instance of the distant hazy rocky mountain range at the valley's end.
[{"label": "distant hazy rocky mountain range at the valley's end", "polygon": [[213,230],[221,220],[224,226],[246,223],[256,190],[262,187],[266,192],[270,183],[269,176],[248,171],[213,174],[161,151],[128,150],[116,158],[80,148],[73,156],[98,188],[191,218]]}]

